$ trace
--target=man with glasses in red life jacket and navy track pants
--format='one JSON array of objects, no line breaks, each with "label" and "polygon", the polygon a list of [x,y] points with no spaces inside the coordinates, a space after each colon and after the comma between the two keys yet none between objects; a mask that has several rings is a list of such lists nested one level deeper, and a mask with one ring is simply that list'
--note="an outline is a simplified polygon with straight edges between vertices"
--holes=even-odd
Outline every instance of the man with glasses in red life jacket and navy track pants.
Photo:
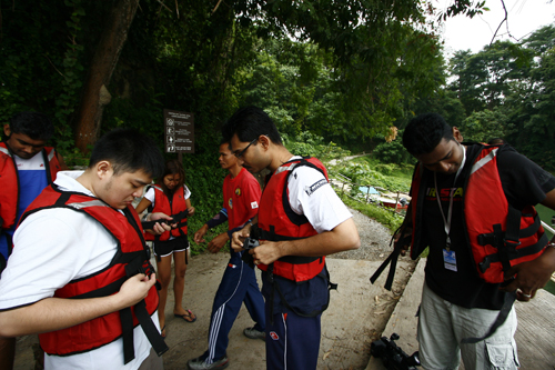
[{"label": "man with glasses in red life jacket and navy track pants", "polygon": [[290,153],[262,109],[240,109],[223,132],[249,171],[271,171],[252,221],[258,226],[248,223],[232,237],[234,250],[242,250],[244,238],[255,231],[260,239],[249,253],[263,271],[266,368],[315,369],[321,313],[333,287],[325,256],[359,248],[356,226],[324,166]]}]

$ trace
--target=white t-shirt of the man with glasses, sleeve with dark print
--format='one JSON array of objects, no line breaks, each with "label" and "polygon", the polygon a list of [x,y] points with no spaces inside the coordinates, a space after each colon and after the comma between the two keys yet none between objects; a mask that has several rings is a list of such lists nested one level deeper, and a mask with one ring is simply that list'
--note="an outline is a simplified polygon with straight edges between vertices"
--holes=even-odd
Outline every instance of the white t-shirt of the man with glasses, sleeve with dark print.
[{"label": "white t-shirt of the man with glasses, sleeve with dark print", "polygon": [[[301,157],[294,156],[290,161],[294,159]],[[317,233],[333,230],[353,217],[324,174],[311,167],[301,166],[292,171],[287,191],[291,209],[304,214]]]}]

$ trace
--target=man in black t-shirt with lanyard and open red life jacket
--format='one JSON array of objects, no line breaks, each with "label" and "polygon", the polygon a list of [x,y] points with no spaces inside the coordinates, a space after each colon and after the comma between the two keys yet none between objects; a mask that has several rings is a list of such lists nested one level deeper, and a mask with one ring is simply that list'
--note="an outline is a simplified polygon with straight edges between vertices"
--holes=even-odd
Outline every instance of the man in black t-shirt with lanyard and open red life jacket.
[{"label": "man in black t-shirt with lanyard and open red life jacket", "polygon": [[411,120],[403,146],[418,163],[396,248],[415,259],[430,247],[423,368],[517,369],[514,299],[528,301],[555,270],[533,208],[555,209],[555,178],[508,146],[462,143],[436,113]]}]

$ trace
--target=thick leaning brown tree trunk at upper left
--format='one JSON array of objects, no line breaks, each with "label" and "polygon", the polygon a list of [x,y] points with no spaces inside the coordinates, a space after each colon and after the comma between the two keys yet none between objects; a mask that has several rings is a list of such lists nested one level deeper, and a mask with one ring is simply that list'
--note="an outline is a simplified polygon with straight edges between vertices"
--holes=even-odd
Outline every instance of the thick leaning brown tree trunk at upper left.
[{"label": "thick leaning brown tree trunk at upper left", "polygon": [[94,144],[100,133],[102,112],[110,100],[108,86],[120,58],[139,0],[118,0],[92,58],[77,111],[75,146],[82,152]]}]

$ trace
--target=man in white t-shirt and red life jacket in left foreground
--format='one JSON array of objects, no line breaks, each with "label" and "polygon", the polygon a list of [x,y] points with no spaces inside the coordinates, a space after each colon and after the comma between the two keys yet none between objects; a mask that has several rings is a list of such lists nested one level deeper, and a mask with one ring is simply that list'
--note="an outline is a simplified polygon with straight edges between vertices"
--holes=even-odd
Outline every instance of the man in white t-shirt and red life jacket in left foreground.
[{"label": "man in white t-shirt and red life jacket in left foreground", "polygon": [[58,173],[13,236],[0,337],[39,333],[46,369],[161,369],[155,274],[131,202],[163,164],[150,138],[120,129],[97,142],[84,172]]}]

